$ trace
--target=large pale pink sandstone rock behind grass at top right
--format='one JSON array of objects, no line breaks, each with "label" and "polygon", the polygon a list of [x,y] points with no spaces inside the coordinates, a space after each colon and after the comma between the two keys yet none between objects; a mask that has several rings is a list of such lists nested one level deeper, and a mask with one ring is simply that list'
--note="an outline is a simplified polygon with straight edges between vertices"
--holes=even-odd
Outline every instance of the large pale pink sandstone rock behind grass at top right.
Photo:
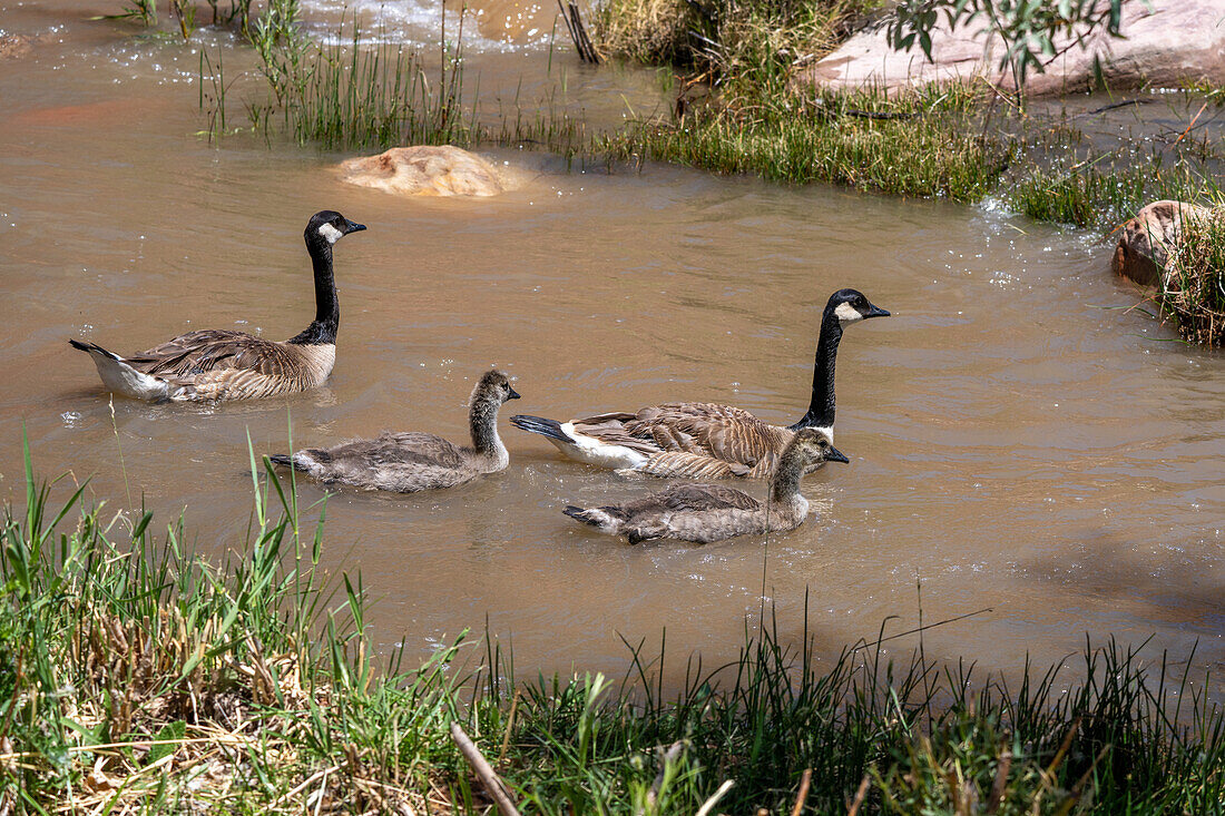
[{"label": "large pale pink sandstone rock behind grass at top right", "polygon": [[[1122,38],[1099,32],[1077,44],[1056,38],[1056,54],[1045,74],[1033,70],[1025,80],[1031,96],[1085,91],[1095,82],[1094,58],[1111,89],[1144,85],[1178,87],[1187,82],[1225,83],[1225,5],[1221,0],[1150,0],[1125,2]],[[862,31],[837,50],[796,75],[799,85],[832,89],[878,87],[893,91],[931,82],[989,82],[1013,88],[1012,75],[1000,69],[1003,40],[989,36],[974,20],[954,31],[941,20],[932,31],[929,62],[918,47],[894,51],[883,23]]]}]

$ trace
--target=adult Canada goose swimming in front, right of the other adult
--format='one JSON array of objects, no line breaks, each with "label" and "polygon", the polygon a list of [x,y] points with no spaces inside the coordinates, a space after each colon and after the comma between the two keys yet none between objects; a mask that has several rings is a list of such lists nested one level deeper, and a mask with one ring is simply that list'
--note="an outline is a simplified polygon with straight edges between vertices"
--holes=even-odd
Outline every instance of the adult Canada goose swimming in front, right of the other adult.
[{"label": "adult Canada goose swimming in front, right of the other adult", "polygon": [[568,423],[519,415],[511,417],[511,424],[540,434],[571,458],[600,467],[658,477],[766,478],[801,428],[818,428],[833,440],[834,360],[843,328],[888,315],[855,289],[829,297],[817,339],[812,401],[794,425],[771,425],[742,408],[708,402],[670,402]]}]

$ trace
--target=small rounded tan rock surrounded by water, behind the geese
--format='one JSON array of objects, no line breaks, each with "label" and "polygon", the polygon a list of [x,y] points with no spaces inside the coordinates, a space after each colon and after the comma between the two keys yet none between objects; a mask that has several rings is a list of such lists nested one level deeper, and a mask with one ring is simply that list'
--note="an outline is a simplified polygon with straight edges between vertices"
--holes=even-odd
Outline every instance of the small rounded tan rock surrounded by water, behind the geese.
[{"label": "small rounded tan rock surrounded by water, behind the geese", "polygon": [[349,184],[413,196],[496,196],[506,190],[492,164],[475,153],[440,147],[393,147],[341,163]]}]

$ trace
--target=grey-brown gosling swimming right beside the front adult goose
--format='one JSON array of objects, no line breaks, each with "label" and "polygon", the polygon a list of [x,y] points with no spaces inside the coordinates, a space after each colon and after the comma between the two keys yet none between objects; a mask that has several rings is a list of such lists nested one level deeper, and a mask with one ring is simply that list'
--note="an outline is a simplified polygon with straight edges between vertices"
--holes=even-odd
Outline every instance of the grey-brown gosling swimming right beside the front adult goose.
[{"label": "grey-brown gosling swimming right beside the front adult goose", "polygon": [[846,462],[820,428],[801,428],[779,457],[764,505],[748,494],[717,484],[679,484],[624,505],[566,507],[571,518],[631,544],[653,538],[709,544],[735,535],[795,529],[809,513],[800,494],[805,472],[822,462]]}]

